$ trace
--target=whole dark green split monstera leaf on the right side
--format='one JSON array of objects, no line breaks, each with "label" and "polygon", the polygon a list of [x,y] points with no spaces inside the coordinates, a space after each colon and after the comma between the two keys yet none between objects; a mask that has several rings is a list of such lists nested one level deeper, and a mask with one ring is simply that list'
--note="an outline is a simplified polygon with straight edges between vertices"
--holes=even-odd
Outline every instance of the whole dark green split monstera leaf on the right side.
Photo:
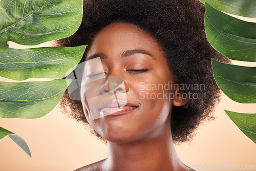
[{"label": "whole dark green split monstera leaf on the right side", "polygon": [[[245,22],[214,7],[242,16],[255,17],[255,1],[206,1],[205,33],[216,50],[232,60],[256,61],[256,23]],[[242,8],[243,7],[243,8]],[[256,103],[256,67],[243,67],[211,60],[219,88],[230,99]],[[225,111],[229,118],[256,143],[256,114]]]}]

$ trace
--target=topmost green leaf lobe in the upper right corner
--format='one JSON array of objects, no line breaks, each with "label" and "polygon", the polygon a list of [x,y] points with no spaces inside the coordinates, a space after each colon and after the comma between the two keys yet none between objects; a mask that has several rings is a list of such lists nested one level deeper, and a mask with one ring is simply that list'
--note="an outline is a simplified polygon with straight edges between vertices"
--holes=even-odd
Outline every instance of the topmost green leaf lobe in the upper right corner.
[{"label": "topmost green leaf lobe in the upper right corner", "polygon": [[234,15],[256,18],[256,1],[254,0],[200,0],[212,7]]}]

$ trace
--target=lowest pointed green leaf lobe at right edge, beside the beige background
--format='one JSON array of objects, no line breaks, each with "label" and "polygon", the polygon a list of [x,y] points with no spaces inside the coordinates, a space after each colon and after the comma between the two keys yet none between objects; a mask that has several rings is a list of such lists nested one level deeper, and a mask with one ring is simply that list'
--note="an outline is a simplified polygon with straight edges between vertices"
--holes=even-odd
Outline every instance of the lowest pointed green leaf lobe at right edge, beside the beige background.
[{"label": "lowest pointed green leaf lobe at right edge, beside the beige background", "polygon": [[256,114],[245,114],[226,111],[228,117],[236,124],[239,129],[256,143]]}]

